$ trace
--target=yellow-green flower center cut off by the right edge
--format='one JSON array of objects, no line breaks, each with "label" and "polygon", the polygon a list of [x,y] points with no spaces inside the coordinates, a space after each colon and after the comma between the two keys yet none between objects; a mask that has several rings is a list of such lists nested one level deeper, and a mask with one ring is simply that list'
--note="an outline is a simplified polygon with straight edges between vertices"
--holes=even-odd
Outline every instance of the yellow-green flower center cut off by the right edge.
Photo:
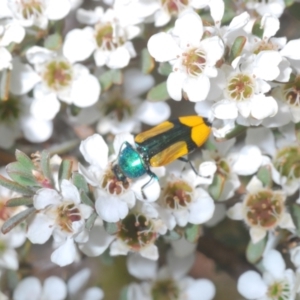
[{"label": "yellow-green flower center cut off by the right edge", "polygon": [[300,178],[300,148],[291,146],[280,149],[273,163],[280,175],[288,181]]}]

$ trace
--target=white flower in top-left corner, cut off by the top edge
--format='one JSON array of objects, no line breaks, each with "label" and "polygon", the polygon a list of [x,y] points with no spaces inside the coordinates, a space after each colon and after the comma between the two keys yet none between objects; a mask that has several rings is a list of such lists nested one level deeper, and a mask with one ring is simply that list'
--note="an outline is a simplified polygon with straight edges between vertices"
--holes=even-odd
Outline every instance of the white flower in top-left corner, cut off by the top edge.
[{"label": "white flower in top-left corner, cut off by the top edge", "polygon": [[[46,29],[49,20],[61,20],[69,13],[70,2],[70,0],[8,0],[10,14],[6,14],[6,17],[13,17],[16,23],[24,27],[37,26]],[[7,8],[5,12],[8,12]]]}]

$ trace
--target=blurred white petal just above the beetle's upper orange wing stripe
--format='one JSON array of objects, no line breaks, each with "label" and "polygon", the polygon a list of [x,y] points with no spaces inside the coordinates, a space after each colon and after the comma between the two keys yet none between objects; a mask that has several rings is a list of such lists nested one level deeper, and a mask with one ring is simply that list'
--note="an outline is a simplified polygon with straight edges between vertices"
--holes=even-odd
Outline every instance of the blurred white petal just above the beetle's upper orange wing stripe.
[{"label": "blurred white petal just above the beetle's upper orange wing stripe", "polygon": [[169,119],[171,109],[166,102],[144,101],[136,114],[141,122],[154,126]]}]

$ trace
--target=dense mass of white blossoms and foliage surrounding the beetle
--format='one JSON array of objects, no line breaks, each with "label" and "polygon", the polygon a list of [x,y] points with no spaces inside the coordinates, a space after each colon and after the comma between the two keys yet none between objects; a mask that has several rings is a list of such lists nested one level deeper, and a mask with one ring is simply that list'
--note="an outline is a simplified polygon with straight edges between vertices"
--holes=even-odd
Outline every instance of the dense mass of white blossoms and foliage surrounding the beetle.
[{"label": "dense mass of white blossoms and foliage surrounding the beetle", "polygon": [[[127,256],[139,282],[122,299],[214,299],[213,280],[188,272],[199,238],[229,219],[249,231],[256,269],[238,274],[238,292],[300,297],[300,38],[278,36],[298,3],[234,1],[228,17],[227,2],[0,0],[0,148],[55,149],[59,121],[73,136],[91,130],[74,164],[53,148],[16,150],[1,170],[1,300],[104,298],[87,268],[43,280],[24,270],[28,245],[49,240],[59,267]],[[168,99],[194,108],[210,137],[190,164],[142,157],[151,172],[121,180],[124,145],[135,151],[143,124],[170,118],[180,104]]]}]

